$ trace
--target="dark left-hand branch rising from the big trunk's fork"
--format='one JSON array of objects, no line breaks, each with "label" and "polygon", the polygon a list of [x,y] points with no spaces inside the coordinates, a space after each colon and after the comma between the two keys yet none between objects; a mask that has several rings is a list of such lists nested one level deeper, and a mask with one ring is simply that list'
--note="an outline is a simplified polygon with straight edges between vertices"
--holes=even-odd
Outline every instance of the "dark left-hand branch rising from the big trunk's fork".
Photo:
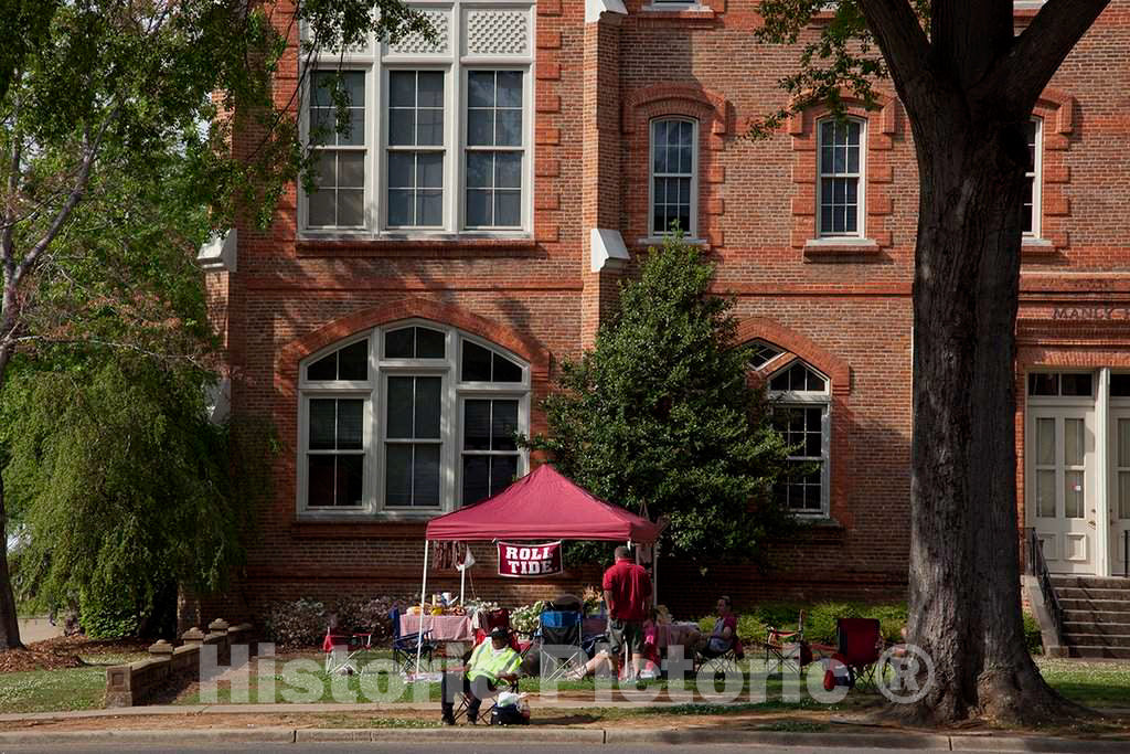
[{"label": "dark left-hand branch rising from the big trunk's fork", "polygon": [[907,0],[858,0],[859,9],[887,60],[887,70],[899,98],[907,106],[916,90],[915,81],[931,76],[930,40]]}]

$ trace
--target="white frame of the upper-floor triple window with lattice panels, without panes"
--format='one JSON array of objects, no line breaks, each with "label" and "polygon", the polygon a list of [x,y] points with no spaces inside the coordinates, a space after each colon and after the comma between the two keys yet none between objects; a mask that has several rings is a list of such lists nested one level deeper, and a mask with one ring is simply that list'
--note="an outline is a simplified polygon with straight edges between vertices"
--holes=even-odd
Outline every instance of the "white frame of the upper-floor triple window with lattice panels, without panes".
[{"label": "white frame of the upper-floor triple window with lattice panels, without panes", "polygon": [[[365,77],[365,227],[324,228],[310,227],[307,197],[297,188],[298,237],[303,240],[333,239],[389,239],[429,240],[459,237],[531,239],[533,235],[533,165],[534,165],[534,53],[537,14],[530,0],[421,0],[411,3],[425,10],[447,14],[447,50],[440,53],[405,54],[393,52],[386,43],[370,38],[368,43],[345,52],[314,55],[304,70],[363,70]],[[466,54],[463,18],[468,10],[522,10],[528,14],[529,40],[524,54]],[[442,227],[389,227],[388,225],[388,72],[392,70],[444,71],[444,185]],[[521,225],[505,228],[468,228],[466,216],[467,149],[467,71],[518,70],[522,71],[522,197]],[[310,76],[304,76],[303,106],[298,119],[299,135],[310,142]]]}]

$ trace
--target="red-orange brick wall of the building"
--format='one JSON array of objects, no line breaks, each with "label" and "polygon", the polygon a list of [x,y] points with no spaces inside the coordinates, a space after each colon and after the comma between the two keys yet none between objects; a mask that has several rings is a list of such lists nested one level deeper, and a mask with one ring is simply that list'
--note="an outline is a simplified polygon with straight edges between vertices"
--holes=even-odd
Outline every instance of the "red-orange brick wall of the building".
[{"label": "red-orange brick wall of the building", "polygon": [[[777,567],[764,574],[719,565],[703,575],[661,563],[661,601],[686,614],[707,609],[720,589],[739,603],[904,593],[918,203],[905,113],[889,92],[879,111],[852,106],[867,122],[864,227],[875,244],[814,249],[807,242],[815,234],[819,113],[792,119],[766,140],[742,138],[751,119],[783,104],[776,80],[794,69],[799,49],[754,41],[759,18],[751,0],[713,0],[678,12],[643,11],[640,0],[629,0],[627,16],[606,14],[599,24],[585,24],[583,5],[538,5],[530,240],[296,243],[290,191],[268,232],[241,228],[238,272],[209,278],[215,322],[226,323],[237,376],[234,408],[271,417],[286,445],[275,496],[258,511],[242,587],[229,596],[249,612],[270,598],[410,591],[419,579],[420,525],[296,521],[296,401],[287,373],[308,353],[296,344],[347,335],[374,323],[373,312],[397,306],[446,317],[449,324],[473,320],[486,337],[547,356],[534,382],[540,398],[553,365],[591,343],[615,305],[619,272],[590,271],[589,231],[619,229],[633,253],[647,235],[647,123],[660,115],[699,123],[698,235],[719,265],[715,289],[736,297],[750,337],[788,340],[779,345],[835,370],[833,521],[772,544]],[[1022,372],[1050,364],[1130,366],[1127,328],[1071,329],[1051,318],[1054,307],[1078,302],[1130,302],[1128,49],[1130,0],[1113,0],[1036,111],[1044,119],[1042,224],[1051,243],[1029,244],[1024,257]],[[296,61],[282,70],[279,96],[289,97]],[[237,149],[251,138],[243,135]],[[1020,417],[1023,405],[1018,430]],[[544,426],[538,411],[533,423]],[[477,592],[515,600],[575,590],[597,575],[515,584],[486,575],[493,556],[480,562]],[[453,573],[431,578],[437,588],[458,583]]]}]

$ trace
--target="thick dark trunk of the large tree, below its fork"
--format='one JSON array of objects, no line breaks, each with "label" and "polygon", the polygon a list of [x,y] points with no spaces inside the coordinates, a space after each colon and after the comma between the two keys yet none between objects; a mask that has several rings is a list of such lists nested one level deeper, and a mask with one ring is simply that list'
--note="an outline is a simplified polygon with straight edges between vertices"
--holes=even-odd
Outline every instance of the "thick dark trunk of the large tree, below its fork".
[{"label": "thick dark trunk of the large tree, below its fork", "polygon": [[1046,721],[1069,703],[1041,678],[1020,617],[1014,370],[1025,147],[1020,122],[965,115],[915,128],[910,639],[938,674],[915,712],[935,723]]}]

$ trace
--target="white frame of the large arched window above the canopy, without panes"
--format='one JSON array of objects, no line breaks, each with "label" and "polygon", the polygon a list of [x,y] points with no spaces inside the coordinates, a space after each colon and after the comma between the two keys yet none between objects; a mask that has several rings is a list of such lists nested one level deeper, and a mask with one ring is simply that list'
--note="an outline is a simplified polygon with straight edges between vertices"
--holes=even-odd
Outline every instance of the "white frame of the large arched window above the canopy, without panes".
[{"label": "white frame of the large arched window above the canopy, without panes", "polygon": [[[386,358],[384,335],[406,327],[424,327],[444,332],[444,358]],[[368,380],[312,381],[306,367],[333,352],[357,343],[368,343]],[[520,382],[460,382],[462,344],[473,343],[514,362],[522,369]],[[440,415],[440,505],[437,508],[386,506],[385,485],[385,409],[390,376],[440,376],[442,397]],[[383,324],[334,343],[304,358],[298,364],[298,436],[295,511],[299,519],[377,519],[421,520],[450,512],[462,505],[463,401],[468,398],[516,399],[518,431],[530,432],[531,406],[530,364],[514,353],[458,328],[424,319],[408,319]],[[362,398],[364,409],[364,503],[360,506],[307,505],[308,468],[306,454],[310,436],[310,400],[314,398]],[[518,474],[529,471],[529,451],[518,451]]]}]

